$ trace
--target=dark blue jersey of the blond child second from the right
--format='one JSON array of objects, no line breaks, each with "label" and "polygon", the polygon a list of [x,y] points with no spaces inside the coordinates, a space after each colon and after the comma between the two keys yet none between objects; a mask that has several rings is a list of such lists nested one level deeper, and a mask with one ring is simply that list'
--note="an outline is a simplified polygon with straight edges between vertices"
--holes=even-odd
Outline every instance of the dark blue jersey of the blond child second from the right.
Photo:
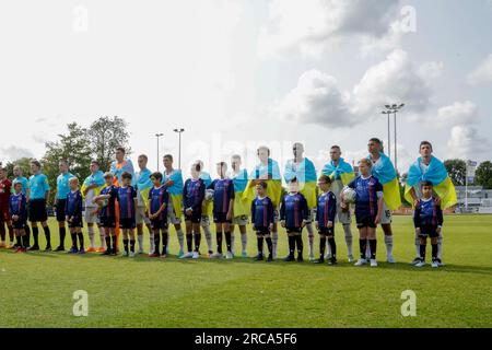
[{"label": "dark blue jersey of the blond child second from the right", "polygon": [[349,184],[349,187],[358,194],[355,214],[377,215],[377,201],[383,197],[383,185],[379,180],[372,175],[367,178],[358,176]]}]

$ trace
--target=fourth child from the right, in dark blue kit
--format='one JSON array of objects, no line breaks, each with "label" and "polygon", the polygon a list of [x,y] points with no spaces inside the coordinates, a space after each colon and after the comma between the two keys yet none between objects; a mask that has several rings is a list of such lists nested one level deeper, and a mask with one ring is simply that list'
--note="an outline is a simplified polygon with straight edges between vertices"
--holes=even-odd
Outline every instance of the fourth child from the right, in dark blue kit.
[{"label": "fourth child from the right, in dark blue kit", "polygon": [[283,196],[280,205],[280,220],[289,236],[289,256],[284,261],[295,261],[294,253],[297,246],[297,261],[303,259],[303,228],[306,225],[309,209],[306,198],[298,191],[297,178],[289,183],[289,194]]}]

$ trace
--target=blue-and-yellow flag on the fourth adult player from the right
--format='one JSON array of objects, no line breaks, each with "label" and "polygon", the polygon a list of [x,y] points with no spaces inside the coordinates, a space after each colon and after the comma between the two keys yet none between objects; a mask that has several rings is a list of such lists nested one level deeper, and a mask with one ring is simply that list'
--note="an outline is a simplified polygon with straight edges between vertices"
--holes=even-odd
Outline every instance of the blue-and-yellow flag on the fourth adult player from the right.
[{"label": "blue-and-yellow flag on the fourth adult player from the right", "polygon": [[294,164],[294,160],[289,160],[285,164],[283,178],[285,183],[297,178],[301,194],[306,198],[307,207],[316,207],[316,168],[312,161],[305,158],[300,164]]}]

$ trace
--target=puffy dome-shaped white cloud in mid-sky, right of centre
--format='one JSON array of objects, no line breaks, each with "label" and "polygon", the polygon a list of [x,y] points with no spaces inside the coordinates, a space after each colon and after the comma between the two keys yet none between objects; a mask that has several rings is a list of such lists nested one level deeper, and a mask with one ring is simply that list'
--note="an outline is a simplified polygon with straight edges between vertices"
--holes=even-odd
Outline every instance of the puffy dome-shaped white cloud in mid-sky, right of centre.
[{"label": "puffy dome-shaped white cloud in mid-sky, right of centre", "polygon": [[343,127],[355,121],[348,105],[349,96],[338,89],[333,77],[311,70],[301,75],[297,86],[272,109],[289,121]]}]

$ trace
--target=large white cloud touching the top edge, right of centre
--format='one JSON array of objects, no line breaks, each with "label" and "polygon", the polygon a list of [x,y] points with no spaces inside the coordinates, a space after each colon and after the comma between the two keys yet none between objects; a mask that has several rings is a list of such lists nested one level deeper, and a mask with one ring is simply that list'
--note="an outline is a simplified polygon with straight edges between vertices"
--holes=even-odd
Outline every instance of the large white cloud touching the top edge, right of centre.
[{"label": "large white cloud touching the top edge, right of centre", "polygon": [[382,38],[397,19],[399,0],[273,0],[269,14],[276,27],[262,28],[258,51],[272,56],[298,49],[316,54],[330,39],[347,35]]}]

